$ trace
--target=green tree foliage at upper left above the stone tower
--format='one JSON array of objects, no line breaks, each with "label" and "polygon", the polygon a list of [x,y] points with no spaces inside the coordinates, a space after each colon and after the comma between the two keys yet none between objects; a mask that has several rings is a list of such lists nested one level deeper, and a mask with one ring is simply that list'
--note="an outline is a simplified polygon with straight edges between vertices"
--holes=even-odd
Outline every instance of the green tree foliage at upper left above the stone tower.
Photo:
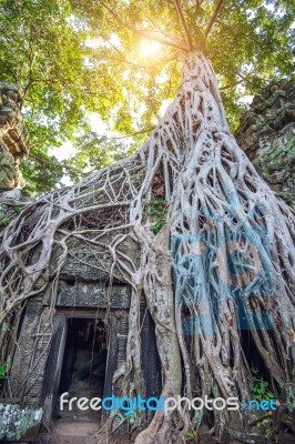
[{"label": "green tree foliage at upper left above the stone tower", "polygon": [[68,0],[3,0],[0,30],[0,80],[20,87],[29,132],[21,169],[29,191],[45,192],[65,172],[49,149],[89,131],[85,112],[101,111],[89,30]]}]

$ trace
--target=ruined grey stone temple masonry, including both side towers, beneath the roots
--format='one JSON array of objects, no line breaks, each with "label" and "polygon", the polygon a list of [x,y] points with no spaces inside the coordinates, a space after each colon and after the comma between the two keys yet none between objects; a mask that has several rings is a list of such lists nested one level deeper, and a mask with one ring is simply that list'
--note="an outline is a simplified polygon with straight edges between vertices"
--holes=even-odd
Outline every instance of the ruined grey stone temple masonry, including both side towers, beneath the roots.
[{"label": "ruined grey stone temple masonry, including both side towers, beneath the roots", "polygon": [[[236,138],[258,171],[261,164],[260,173],[273,190],[288,201],[294,198],[294,89],[288,83],[272,88],[275,94],[269,87],[254,100]],[[28,157],[21,97],[18,88],[8,83],[0,83],[0,95],[1,244],[4,228],[30,203],[30,198],[22,191],[24,182],[19,170],[19,163]],[[33,218],[32,213],[31,223]],[[126,355],[131,287],[120,278],[110,285],[110,255],[103,249],[92,249],[78,239],[68,246],[58,281],[49,279],[19,314],[8,379],[1,379],[0,362],[1,442],[54,444],[42,441],[52,424],[63,418],[79,420],[75,410],[60,410],[62,393],[88,398],[120,396],[113,376]],[[136,245],[130,239],[121,245],[122,254],[124,251],[134,263],[139,261]],[[32,254],[38,254],[38,249]],[[144,392],[145,397],[157,397],[162,376],[155,329],[145,301],[141,302]],[[89,424],[104,422],[106,413],[92,413],[94,417],[87,417]],[[146,423],[150,418],[146,414]],[[121,420],[112,418],[113,428]]]}]

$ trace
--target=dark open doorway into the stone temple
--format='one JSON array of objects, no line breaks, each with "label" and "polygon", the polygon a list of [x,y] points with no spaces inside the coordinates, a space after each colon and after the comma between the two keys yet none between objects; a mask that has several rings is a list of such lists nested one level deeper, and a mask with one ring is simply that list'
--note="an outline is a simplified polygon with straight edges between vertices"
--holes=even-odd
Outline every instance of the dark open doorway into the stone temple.
[{"label": "dark open doorway into the stone temple", "polygon": [[[64,392],[71,397],[103,397],[106,369],[108,327],[103,320],[68,319],[68,334],[58,392],[55,420],[81,418],[99,420],[100,412],[79,411],[73,403],[72,410],[60,410],[59,398]],[[93,416],[93,417],[92,417]]]}]

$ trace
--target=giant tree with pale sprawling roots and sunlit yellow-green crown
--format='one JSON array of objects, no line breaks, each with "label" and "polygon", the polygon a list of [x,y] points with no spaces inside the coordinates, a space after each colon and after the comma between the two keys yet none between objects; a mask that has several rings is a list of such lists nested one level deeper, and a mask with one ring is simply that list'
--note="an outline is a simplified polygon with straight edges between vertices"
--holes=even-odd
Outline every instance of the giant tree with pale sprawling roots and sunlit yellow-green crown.
[{"label": "giant tree with pale sprawling roots and sunlit yellow-green crown", "polygon": [[[221,80],[228,77],[228,85],[246,79],[245,88],[251,88],[256,72],[267,77],[274,63],[288,73],[291,12],[287,4],[272,4],[273,12],[261,1],[75,6],[89,26],[99,17],[98,39],[111,41],[112,54],[118,54],[109,64],[101,59],[102,82],[119,62],[130,63],[125,79],[131,92],[136,79],[149,82],[148,74],[134,74],[140,67],[132,47],[140,36],[172,48],[173,53],[163,50],[165,60],[176,51],[181,85],[135,154],[44,196],[7,229],[0,321],[8,325],[49,280],[57,282],[73,239],[103,251],[108,260],[101,269],[110,285],[121,280],[132,287],[126,360],[113,381],[121,394],[133,397],[143,391],[142,296],[155,323],[164,396],[248,400],[252,375],[243,322],[247,346],[261,355],[277,396],[286,398],[294,391],[294,213],[275,199],[237,147],[210,61]],[[103,51],[109,48],[99,46],[98,52]],[[247,62],[251,75],[244,72]],[[170,65],[166,72],[172,71]],[[145,111],[148,119],[151,107]],[[116,128],[129,124],[120,103],[113,120]],[[126,239],[136,244],[139,260],[122,249]],[[7,331],[2,329],[4,344]],[[2,350],[9,353],[8,345]],[[232,414],[212,412],[217,438]],[[138,412],[135,425],[142,421]],[[187,430],[201,421],[202,414],[192,416],[185,408],[159,411],[136,443],[184,442]]]}]

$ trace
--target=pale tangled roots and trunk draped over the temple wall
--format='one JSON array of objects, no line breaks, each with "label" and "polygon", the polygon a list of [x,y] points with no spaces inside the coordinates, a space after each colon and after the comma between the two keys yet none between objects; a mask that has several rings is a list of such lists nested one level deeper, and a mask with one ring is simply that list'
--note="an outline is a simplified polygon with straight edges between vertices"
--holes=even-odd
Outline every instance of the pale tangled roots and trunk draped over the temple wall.
[{"label": "pale tangled roots and trunk draped over the temple wall", "polygon": [[[161,221],[149,210],[152,202],[162,205]],[[110,285],[119,279],[132,286],[126,360],[113,381],[120,394],[144,394],[144,295],[165,397],[248,398],[242,320],[279,395],[294,382],[294,213],[275,199],[228,131],[210,62],[191,53],[175,100],[136,154],[42,198],[7,229],[0,322],[14,330],[1,330],[1,362],[16,347],[12,332],[26,301],[49,281],[53,315],[55,283],[77,242],[108,255],[101,270]],[[136,261],[121,248],[129,239],[140,251]],[[230,413],[213,413],[216,436]],[[185,410],[156,412],[135,443],[185,442],[201,420]]]}]

